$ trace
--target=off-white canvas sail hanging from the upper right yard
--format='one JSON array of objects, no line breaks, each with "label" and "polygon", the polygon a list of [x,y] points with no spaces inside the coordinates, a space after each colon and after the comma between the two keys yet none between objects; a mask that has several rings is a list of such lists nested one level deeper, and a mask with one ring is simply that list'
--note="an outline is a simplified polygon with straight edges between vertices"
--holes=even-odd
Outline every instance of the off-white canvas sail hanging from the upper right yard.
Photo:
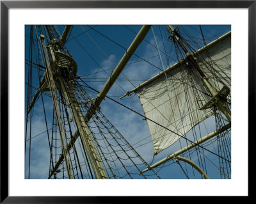
[{"label": "off-white canvas sail hanging from the upper right yard", "polygon": [[[221,36],[193,54],[212,86],[220,91],[231,85],[231,33]],[[211,99],[195,69],[181,60],[134,91],[140,98],[154,145],[154,154],[171,146],[180,136],[212,114],[199,110]],[[130,91],[130,93],[132,92]],[[158,125],[161,124],[162,126]],[[163,128],[166,127],[166,128]]]}]

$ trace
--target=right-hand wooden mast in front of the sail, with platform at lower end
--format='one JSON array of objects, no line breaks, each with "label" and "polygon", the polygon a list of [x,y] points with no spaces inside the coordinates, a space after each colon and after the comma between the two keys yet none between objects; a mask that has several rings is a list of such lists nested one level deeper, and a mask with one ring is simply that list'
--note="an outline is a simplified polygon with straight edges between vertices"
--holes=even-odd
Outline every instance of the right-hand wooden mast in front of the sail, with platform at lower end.
[{"label": "right-hand wooden mast in front of the sail, with platform at lower end", "polygon": [[170,37],[172,36],[179,43],[180,47],[186,54],[188,61],[191,62],[193,67],[196,69],[196,71],[200,75],[201,81],[204,84],[205,88],[212,95],[211,100],[209,100],[209,102],[207,102],[207,104],[205,104],[200,109],[207,109],[212,106],[216,106],[226,116],[228,122],[231,123],[231,111],[228,107],[227,101],[225,100],[227,95],[230,93],[230,89],[227,86],[223,86],[223,88],[219,92],[217,92],[215,88],[212,86],[209,79],[206,77],[206,75],[202,71],[202,69],[200,68],[200,66],[198,65],[198,63],[196,62],[195,58],[180,41],[180,35],[179,33],[177,33],[176,29],[173,29],[173,27],[170,25],[168,25],[167,27],[171,31]]}]

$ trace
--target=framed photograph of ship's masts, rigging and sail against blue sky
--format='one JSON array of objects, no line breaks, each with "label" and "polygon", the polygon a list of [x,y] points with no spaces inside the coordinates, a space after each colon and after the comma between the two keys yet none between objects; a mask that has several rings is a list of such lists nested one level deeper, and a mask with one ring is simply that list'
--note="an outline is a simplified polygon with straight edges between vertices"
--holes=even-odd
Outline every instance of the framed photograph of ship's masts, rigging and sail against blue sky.
[{"label": "framed photograph of ship's masts, rigging and sail against blue sky", "polygon": [[230,179],[231,25],[26,25],[25,178]]}]

